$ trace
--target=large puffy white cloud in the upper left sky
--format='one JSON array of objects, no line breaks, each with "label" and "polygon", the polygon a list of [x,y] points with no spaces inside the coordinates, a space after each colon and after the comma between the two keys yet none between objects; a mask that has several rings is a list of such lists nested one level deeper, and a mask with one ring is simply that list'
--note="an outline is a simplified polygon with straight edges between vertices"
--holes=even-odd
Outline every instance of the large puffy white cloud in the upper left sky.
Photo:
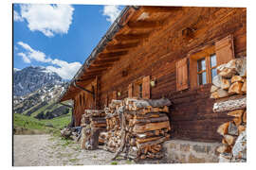
[{"label": "large puffy white cloud in the upper left sky", "polygon": [[16,16],[19,16],[19,19],[16,17],[17,21],[26,19],[31,31],[41,31],[47,37],[66,34],[72,24],[74,8],[70,5],[26,4],[20,8],[21,13],[16,12]]}]

